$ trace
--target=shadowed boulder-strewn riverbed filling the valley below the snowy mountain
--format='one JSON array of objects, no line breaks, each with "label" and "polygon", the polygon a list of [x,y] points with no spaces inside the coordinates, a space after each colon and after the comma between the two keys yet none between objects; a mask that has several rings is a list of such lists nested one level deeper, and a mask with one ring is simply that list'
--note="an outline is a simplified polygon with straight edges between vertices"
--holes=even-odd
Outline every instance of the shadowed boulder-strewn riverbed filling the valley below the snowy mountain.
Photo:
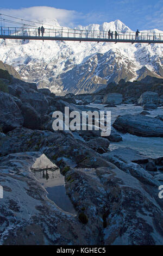
[{"label": "shadowed boulder-strewn riverbed filling the valley below the snowy mountain", "polygon": [[[162,245],[162,81],[132,83],[134,96],[131,84],[121,81],[105,93],[61,97],[11,78],[3,80],[8,92],[0,92],[0,244]],[[52,114],[65,107],[111,111],[111,135],[54,131]],[[134,140],[143,139],[141,150]],[[74,212],[57,203],[59,190],[52,200],[33,171],[43,168],[48,177],[53,165]]]}]

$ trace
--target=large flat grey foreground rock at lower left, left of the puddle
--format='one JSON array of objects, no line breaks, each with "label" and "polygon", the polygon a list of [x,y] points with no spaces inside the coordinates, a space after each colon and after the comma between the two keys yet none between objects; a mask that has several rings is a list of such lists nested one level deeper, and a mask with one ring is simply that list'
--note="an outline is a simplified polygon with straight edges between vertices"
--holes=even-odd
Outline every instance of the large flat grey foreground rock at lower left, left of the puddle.
[{"label": "large flat grey foreground rock at lower left, left of the puddle", "polygon": [[0,157],[4,190],[0,199],[0,245],[96,244],[97,236],[94,239],[78,217],[47,199],[45,188],[30,172],[30,167],[40,166],[42,161],[51,164],[39,152]]}]

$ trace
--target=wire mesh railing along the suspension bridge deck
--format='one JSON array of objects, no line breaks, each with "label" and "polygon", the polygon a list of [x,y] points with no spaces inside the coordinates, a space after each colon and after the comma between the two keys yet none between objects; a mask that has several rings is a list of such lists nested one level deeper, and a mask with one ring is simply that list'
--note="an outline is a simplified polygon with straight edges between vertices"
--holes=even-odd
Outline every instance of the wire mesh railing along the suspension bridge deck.
[{"label": "wire mesh railing along the suspension bridge deck", "polygon": [[[135,40],[135,32],[115,32],[110,39],[121,39],[121,40]],[[14,36],[39,36],[37,28],[26,28],[26,27],[0,27],[0,35],[14,35]],[[41,32],[40,32],[40,36]],[[56,37],[56,38],[78,38],[78,39],[108,39],[108,31],[90,31],[80,29],[67,29],[67,28],[45,28],[43,36]],[[139,40],[157,41],[163,40],[163,33],[147,33],[140,32]]]}]

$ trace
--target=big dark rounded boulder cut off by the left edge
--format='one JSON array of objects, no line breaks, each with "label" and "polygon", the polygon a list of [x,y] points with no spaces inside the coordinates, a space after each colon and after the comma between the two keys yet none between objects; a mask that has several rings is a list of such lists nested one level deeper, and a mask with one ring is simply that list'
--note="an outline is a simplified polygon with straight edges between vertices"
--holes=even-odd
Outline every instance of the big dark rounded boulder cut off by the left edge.
[{"label": "big dark rounded boulder cut off by the left edge", "polygon": [[0,92],[0,125],[3,132],[8,132],[23,125],[23,116],[12,97]]}]

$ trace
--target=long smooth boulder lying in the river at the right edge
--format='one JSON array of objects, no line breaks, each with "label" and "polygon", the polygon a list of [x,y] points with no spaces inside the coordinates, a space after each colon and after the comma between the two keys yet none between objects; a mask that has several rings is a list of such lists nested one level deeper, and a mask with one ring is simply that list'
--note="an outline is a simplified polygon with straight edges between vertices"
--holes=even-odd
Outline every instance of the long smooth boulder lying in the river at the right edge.
[{"label": "long smooth boulder lying in the river at the right edge", "polygon": [[142,137],[163,137],[163,121],[146,115],[122,115],[112,126],[123,133],[128,132]]}]

